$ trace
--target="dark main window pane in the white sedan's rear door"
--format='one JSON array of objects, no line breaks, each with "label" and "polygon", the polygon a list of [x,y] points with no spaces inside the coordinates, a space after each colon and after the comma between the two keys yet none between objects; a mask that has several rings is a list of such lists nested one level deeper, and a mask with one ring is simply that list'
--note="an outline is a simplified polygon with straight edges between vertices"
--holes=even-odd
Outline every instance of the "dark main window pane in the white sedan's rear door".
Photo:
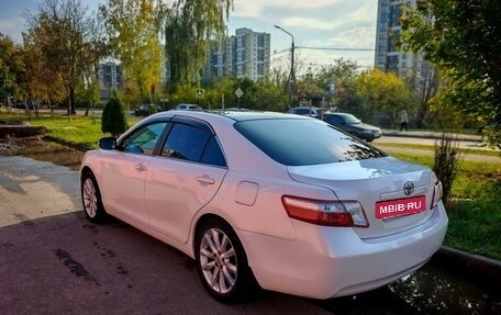
[{"label": "dark main window pane in the white sedan's rear door", "polygon": [[162,156],[200,161],[212,134],[197,126],[177,123],[162,149]]}]

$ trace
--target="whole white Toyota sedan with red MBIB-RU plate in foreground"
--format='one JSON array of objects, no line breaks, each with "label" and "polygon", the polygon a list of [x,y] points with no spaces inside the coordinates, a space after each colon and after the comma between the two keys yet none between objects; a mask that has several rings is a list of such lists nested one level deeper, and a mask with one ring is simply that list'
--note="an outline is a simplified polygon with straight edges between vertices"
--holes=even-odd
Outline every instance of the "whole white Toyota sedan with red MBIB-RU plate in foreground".
[{"label": "whole white Toyota sedan with red MBIB-RU plate in foreground", "polygon": [[394,281],[441,247],[434,172],[315,119],[162,112],[80,168],[87,217],[115,216],[196,259],[222,302],[258,286],[313,299]]}]

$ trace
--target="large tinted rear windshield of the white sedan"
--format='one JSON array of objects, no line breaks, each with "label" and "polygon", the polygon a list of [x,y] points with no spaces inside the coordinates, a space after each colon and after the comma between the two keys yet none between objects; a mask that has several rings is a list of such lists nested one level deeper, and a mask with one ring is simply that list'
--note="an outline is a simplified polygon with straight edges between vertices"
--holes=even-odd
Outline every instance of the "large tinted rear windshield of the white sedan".
[{"label": "large tinted rear windshield of the white sedan", "polygon": [[252,120],[235,128],[274,160],[308,166],[387,156],[376,147],[314,119]]}]

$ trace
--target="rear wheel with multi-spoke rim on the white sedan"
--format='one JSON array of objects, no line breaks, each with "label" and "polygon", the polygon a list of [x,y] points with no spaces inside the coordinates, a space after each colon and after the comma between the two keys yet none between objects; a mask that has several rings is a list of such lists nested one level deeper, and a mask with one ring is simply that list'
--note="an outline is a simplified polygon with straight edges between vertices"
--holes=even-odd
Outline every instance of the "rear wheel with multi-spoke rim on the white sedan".
[{"label": "rear wheel with multi-spoke rim on the white sedan", "polygon": [[194,254],[199,278],[212,297],[235,303],[249,296],[254,277],[242,243],[227,223],[216,218],[202,223]]}]

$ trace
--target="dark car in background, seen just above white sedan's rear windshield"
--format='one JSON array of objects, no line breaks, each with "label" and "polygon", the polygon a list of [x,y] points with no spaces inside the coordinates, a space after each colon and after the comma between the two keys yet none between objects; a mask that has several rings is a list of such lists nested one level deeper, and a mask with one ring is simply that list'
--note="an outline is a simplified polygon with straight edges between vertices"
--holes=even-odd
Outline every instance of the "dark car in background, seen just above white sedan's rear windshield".
[{"label": "dark car in background, seen just above white sedan's rear windshield", "polygon": [[363,123],[359,119],[348,113],[326,112],[323,113],[323,120],[326,123],[367,142],[371,142],[382,135],[380,127]]}]

